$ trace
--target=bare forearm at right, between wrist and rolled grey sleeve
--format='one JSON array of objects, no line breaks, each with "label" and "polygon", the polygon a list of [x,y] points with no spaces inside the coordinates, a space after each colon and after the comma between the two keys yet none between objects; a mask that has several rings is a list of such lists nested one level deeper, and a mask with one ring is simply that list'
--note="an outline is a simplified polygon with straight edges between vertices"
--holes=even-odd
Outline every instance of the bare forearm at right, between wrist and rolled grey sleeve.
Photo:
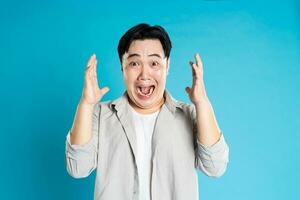
[{"label": "bare forearm at right, between wrist and rolled grey sleeve", "polygon": [[220,139],[220,128],[207,97],[194,104],[196,107],[197,137],[201,144],[211,146]]}]

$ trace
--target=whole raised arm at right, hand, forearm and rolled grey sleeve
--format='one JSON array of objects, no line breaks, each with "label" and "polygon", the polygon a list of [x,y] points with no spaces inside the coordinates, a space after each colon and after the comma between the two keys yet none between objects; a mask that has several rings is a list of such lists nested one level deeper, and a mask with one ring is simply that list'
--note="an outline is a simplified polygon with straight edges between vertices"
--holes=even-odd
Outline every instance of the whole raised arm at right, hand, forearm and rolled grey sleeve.
[{"label": "whole raised arm at right, hand, forearm and rolled grey sleeve", "polygon": [[197,143],[196,167],[208,176],[219,177],[226,170],[229,149],[206,95],[200,56],[196,54],[195,59],[196,64],[190,62],[193,85],[192,88],[186,87],[186,92],[194,104],[192,120]]}]

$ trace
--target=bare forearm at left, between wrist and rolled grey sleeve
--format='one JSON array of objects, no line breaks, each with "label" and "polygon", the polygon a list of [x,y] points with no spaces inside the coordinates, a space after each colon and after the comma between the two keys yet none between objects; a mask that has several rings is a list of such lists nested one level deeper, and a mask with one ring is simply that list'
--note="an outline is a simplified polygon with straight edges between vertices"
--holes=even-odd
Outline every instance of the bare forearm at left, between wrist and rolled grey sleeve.
[{"label": "bare forearm at left, between wrist and rolled grey sleeve", "polygon": [[71,128],[71,144],[84,145],[92,137],[93,104],[79,102]]}]

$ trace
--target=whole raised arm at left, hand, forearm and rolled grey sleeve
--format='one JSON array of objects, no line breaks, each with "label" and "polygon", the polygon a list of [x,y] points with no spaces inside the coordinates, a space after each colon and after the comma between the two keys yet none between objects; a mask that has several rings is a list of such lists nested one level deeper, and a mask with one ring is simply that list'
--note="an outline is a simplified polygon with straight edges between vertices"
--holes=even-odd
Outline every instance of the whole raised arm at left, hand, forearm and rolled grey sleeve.
[{"label": "whole raised arm at left, hand, forearm and rolled grey sleeve", "polygon": [[102,96],[108,88],[99,89],[96,74],[97,60],[93,55],[85,70],[84,88],[66,139],[66,166],[74,178],[88,176],[97,166],[98,123]]}]

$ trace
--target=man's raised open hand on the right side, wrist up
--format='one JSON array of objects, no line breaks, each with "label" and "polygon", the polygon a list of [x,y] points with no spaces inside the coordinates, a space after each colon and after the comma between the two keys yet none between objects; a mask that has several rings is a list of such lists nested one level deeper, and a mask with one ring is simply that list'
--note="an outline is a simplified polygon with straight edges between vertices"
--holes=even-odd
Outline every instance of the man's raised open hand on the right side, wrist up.
[{"label": "man's raised open hand on the right side, wrist up", "polygon": [[196,105],[206,99],[206,91],[203,80],[203,65],[198,53],[195,54],[196,63],[190,61],[192,67],[193,84],[192,88],[186,87],[185,91],[189,94],[190,100]]}]

